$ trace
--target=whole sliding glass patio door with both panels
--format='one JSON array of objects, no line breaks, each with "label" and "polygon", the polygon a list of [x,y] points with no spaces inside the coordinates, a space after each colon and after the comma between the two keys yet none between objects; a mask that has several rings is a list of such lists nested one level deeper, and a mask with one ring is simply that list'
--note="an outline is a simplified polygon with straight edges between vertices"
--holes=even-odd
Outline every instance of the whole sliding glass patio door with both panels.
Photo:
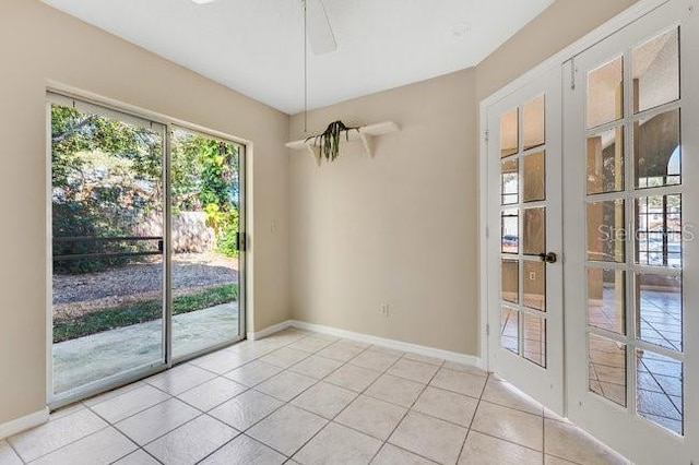
[{"label": "whole sliding glass patio door with both panels", "polygon": [[245,336],[245,146],[49,92],[48,400]]}]

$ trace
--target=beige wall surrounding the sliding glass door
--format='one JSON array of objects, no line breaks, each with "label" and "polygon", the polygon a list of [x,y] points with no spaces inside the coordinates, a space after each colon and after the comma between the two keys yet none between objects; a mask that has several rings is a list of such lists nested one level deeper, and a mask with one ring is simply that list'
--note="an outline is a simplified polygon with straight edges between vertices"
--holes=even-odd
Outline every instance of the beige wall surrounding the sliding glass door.
[{"label": "beige wall surrounding the sliding glass door", "polygon": [[289,317],[288,116],[36,0],[0,1],[0,424],[46,402],[47,80],[252,141],[252,327]]}]

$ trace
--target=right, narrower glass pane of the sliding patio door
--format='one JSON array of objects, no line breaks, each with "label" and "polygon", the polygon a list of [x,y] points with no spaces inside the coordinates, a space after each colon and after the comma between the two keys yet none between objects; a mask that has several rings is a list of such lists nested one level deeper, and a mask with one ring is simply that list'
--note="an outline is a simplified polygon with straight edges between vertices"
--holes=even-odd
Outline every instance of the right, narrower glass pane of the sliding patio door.
[{"label": "right, narrower glass pane of the sliding patio door", "polygon": [[173,355],[240,334],[237,235],[241,147],[176,129],[171,138]]}]

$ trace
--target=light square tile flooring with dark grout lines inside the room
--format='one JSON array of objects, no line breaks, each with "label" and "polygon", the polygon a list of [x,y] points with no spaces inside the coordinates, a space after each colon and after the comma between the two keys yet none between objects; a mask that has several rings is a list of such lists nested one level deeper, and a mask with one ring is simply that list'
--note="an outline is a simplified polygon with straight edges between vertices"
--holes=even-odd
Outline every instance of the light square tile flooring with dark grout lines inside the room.
[{"label": "light square tile flooring with dark grout lines inside the room", "polygon": [[628,464],[495,375],[286,330],[51,415],[0,464]]}]

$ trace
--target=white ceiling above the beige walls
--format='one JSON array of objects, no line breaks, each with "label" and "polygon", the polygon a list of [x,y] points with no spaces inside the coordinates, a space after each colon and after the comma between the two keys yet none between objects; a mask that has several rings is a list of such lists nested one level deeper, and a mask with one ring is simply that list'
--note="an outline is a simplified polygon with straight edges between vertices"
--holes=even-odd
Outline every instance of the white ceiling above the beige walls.
[{"label": "white ceiling above the beige walls", "polygon": [[[299,0],[44,2],[286,114],[304,109]],[[309,56],[309,107],[475,65],[553,2],[324,0],[337,49]]]}]

